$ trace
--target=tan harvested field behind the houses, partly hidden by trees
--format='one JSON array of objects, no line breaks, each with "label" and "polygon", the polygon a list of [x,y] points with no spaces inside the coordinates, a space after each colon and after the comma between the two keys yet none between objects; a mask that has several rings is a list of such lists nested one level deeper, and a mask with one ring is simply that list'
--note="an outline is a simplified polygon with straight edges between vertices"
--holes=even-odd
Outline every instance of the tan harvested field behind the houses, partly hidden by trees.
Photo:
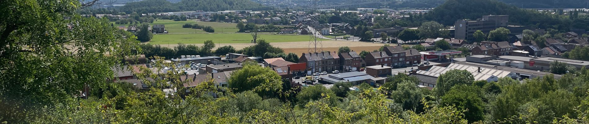
[{"label": "tan harvested field behind the houses, partly hidden by trees", "polygon": [[[284,49],[284,52],[289,53],[297,53],[299,56],[302,55],[303,52],[307,52],[309,50],[309,42],[273,42],[270,43],[273,46],[277,46],[279,48]],[[323,41],[323,51],[337,51],[341,46],[348,46],[353,51],[369,51],[372,52],[375,49],[380,48],[382,43],[371,43],[371,42],[357,42],[357,41]],[[204,44],[194,44],[197,46],[203,46]],[[215,43],[215,48],[217,49],[220,46],[231,45],[235,49],[243,49],[247,46],[254,45],[254,43]],[[177,44],[171,45],[161,45],[168,48],[174,48]],[[319,46],[317,46],[319,47]]]}]

